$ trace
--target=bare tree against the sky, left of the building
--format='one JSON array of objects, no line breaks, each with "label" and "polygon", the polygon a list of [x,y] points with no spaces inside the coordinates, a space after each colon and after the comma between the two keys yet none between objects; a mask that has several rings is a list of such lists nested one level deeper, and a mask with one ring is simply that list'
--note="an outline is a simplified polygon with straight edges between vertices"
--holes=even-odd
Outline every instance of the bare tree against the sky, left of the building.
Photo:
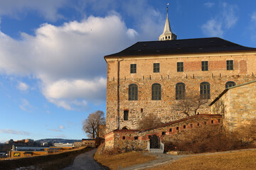
[{"label": "bare tree against the sky, left of the building", "polygon": [[82,130],[92,139],[99,137],[100,125],[105,125],[106,120],[102,111],[90,113],[87,119],[82,122]]}]

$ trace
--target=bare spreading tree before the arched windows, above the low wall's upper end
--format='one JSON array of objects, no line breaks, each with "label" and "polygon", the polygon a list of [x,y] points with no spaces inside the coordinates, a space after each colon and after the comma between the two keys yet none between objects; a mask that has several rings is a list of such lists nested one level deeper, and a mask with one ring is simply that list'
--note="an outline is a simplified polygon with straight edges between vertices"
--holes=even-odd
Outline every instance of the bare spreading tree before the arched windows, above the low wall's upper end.
[{"label": "bare spreading tree before the arched windows, above the low wall's upper end", "polygon": [[203,108],[206,103],[208,103],[208,99],[201,98],[198,94],[188,94],[185,99],[176,101],[172,109],[187,116],[190,113],[196,115],[198,109]]}]

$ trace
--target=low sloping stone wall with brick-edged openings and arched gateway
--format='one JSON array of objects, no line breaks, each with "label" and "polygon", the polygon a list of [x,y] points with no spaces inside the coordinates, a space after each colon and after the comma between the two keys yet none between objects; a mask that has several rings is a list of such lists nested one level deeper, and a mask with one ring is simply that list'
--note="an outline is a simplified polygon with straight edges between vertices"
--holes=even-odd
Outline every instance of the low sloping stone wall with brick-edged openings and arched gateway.
[{"label": "low sloping stone wall with brick-edged openings and arched gateway", "polygon": [[145,130],[114,130],[105,136],[105,148],[146,150],[152,135],[159,137],[161,142],[171,142],[174,135],[179,135],[184,130],[220,123],[222,123],[221,115],[194,115]]}]

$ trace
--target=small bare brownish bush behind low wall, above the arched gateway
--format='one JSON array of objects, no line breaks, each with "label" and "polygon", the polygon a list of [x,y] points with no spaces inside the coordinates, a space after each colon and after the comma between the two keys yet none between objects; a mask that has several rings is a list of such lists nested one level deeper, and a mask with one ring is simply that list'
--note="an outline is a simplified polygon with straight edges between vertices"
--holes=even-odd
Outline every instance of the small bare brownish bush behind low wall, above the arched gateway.
[{"label": "small bare brownish bush behind low wall, above the arched gateway", "polygon": [[146,115],[144,118],[142,118],[142,120],[139,120],[138,123],[139,129],[153,128],[161,124],[161,119],[154,114]]}]

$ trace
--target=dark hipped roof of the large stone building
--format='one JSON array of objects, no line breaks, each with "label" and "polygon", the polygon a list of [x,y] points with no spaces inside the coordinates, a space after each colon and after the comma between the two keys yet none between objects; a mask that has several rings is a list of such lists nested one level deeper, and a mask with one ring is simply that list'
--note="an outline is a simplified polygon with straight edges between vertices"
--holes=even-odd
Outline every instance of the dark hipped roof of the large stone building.
[{"label": "dark hipped roof of the large stone building", "polygon": [[221,38],[193,38],[183,40],[144,41],[107,57],[125,57],[137,55],[171,55],[205,52],[256,51],[256,48],[244,47]]}]

